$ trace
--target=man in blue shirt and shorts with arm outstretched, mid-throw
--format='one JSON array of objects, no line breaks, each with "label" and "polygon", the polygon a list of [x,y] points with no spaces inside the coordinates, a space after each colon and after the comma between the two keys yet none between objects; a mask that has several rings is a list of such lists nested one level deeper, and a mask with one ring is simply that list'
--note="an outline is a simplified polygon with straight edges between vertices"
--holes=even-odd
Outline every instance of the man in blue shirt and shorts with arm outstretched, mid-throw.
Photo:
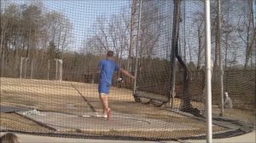
[{"label": "man in blue shirt and shorts with arm outstretched, mid-throw", "polygon": [[103,117],[107,117],[109,120],[111,109],[108,107],[108,94],[109,89],[112,84],[113,74],[114,72],[123,72],[126,76],[135,78],[131,75],[131,73],[125,71],[113,61],[113,51],[109,50],[107,53],[107,58],[105,60],[101,60],[99,64],[100,69],[100,82],[99,82],[99,96],[102,101],[103,108]]}]

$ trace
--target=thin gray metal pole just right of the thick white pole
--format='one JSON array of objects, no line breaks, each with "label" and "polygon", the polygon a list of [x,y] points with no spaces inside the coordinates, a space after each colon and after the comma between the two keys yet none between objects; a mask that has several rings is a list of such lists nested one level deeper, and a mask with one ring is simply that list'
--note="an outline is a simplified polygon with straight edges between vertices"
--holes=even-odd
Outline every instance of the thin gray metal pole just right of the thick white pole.
[{"label": "thin gray metal pole just right of the thick white pole", "polygon": [[221,111],[220,116],[224,114],[224,83],[223,83],[223,66],[222,66],[222,52],[221,52],[221,0],[218,0],[218,65],[219,65],[219,83],[220,83],[220,103],[221,103]]}]

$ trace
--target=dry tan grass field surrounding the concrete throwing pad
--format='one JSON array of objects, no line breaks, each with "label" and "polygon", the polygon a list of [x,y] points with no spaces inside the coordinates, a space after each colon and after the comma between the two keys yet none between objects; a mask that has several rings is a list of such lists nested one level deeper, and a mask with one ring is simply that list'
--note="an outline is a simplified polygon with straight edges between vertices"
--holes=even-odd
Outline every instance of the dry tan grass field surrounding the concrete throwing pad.
[{"label": "dry tan grass field surrounding the concrete throwing pad", "polygon": [[[158,135],[161,137],[173,138],[183,136],[193,136],[205,133],[205,123],[193,117],[185,117],[175,112],[169,112],[163,108],[152,105],[143,105],[133,100],[131,90],[112,88],[109,95],[110,106],[114,112],[131,114],[132,116],[143,116],[147,118],[158,119],[160,121],[170,123],[180,123],[189,127],[196,127],[195,130],[172,131],[172,132],[128,132],[117,131],[102,132],[101,129],[95,129],[90,134],[105,135],[122,135],[152,137]],[[97,84],[91,83],[75,83],[75,82],[59,82],[47,80],[31,80],[1,77],[1,106],[15,106],[29,109],[37,109],[38,111],[61,112],[75,115],[84,115],[86,112],[92,112],[88,103],[96,110],[102,112],[102,106],[97,94]],[[180,100],[174,101],[178,107]],[[193,106],[202,108],[202,104],[192,102]],[[213,110],[218,110],[213,109]],[[233,112],[233,113],[232,113]],[[229,112],[233,116],[241,116],[254,122],[255,117],[251,112],[242,112],[233,110]],[[1,129],[13,129],[26,132],[48,133],[53,132],[44,128],[29,119],[21,117],[15,113],[1,113]],[[56,118],[55,120],[58,121]],[[61,121],[58,121],[61,122]],[[129,128],[129,127],[127,127]],[[225,128],[214,126],[213,131],[222,131]],[[69,133],[81,134],[81,133]]]}]

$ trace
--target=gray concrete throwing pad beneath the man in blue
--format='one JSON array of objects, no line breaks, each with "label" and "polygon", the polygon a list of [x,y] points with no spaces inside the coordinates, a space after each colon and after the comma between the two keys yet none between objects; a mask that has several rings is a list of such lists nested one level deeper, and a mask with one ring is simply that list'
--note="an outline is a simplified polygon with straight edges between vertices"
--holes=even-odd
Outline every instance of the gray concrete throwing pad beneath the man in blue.
[{"label": "gray concrete throwing pad beneath the man in blue", "polygon": [[[23,112],[18,112],[23,115]],[[189,123],[170,123],[139,115],[113,112],[110,120],[95,117],[95,112],[70,115],[58,112],[40,112],[40,115],[23,115],[57,131],[173,131],[194,130]]]}]

